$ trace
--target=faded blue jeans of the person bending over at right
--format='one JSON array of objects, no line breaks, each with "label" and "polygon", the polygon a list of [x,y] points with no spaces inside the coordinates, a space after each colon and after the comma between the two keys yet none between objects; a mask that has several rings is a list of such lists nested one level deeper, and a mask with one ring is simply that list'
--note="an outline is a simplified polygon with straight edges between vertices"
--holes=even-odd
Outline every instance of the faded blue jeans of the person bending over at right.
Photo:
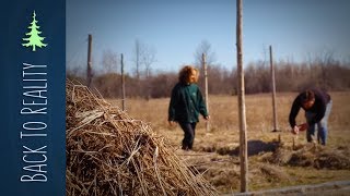
[{"label": "faded blue jeans of the person bending over at right", "polygon": [[326,145],[328,134],[327,122],[331,110],[331,105],[332,102],[330,100],[327,103],[325,117],[318,123],[315,124],[310,124],[310,122],[315,118],[316,113],[305,112],[306,121],[308,124],[308,128],[306,132],[307,142],[313,142],[315,135],[315,126],[317,125],[317,142],[318,144],[320,143],[322,145]]}]

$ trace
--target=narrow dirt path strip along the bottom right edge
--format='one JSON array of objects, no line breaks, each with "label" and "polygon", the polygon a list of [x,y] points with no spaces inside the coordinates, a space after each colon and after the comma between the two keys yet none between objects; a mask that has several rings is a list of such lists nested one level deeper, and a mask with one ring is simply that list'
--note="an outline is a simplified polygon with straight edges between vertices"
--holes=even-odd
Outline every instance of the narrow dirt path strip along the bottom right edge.
[{"label": "narrow dirt path strip along the bottom right edge", "polygon": [[260,192],[248,193],[232,193],[223,194],[222,196],[270,196],[270,195],[331,195],[331,196],[348,196],[350,195],[350,181],[336,181],[322,183],[316,185],[290,186],[276,189],[267,189]]}]

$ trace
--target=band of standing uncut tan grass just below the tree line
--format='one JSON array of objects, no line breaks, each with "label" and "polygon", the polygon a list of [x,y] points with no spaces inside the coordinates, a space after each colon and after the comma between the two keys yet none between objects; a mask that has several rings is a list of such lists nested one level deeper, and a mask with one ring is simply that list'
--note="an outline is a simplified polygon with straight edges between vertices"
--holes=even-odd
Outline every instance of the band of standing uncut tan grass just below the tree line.
[{"label": "band of standing uncut tan grass just below the tree line", "polygon": [[[350,91],[334,91],[332,110],[329,117],[330,131],[341,131],[350,127]],[[289,130],[288,115],[295,93],[277,94],[277,115],[279,130]],[[209,96],[209,110],[211,114],[212,131],[237,131],[237,97],[235,96]],[[120,106],[120,100],[113,99],[109,102]],[[168,98],[151,99],[128,99],[127,111],[132,115],[144,121],[151,122],[156,130],[167,127],[167,107]],[[246,96],[246,117],[248,132],[269,132],[272,130],[272,108],[271,95],[248,95]],[[304,113],[301,111],[298,120],[303,122]],[[205,127],[203,123],[199,128]]]}]

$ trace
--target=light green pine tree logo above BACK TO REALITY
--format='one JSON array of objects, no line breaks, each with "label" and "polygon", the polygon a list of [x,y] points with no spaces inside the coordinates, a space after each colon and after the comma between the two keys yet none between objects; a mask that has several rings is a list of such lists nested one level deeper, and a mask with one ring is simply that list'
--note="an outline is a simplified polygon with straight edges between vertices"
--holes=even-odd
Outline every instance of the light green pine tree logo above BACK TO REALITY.
[{"label": "light green pine tree logo above BACK TO REALITY", "polygon": [[36,51],[36,47],[42,48],[42,47],[46,47],[47,46],[47,44],[43,42],[45,37],[40,37],[39,36],[42,34],[42,32],[38,30],[40,28],[40,26],[38,26],[36,24],[37,21],[36,21],[35,16],[36,16],[36,14],[35,14],[35,11],[34,11],[33,12],[33,21],[31,23],[31,26],[28,26],[31,32],[25,34],[28,37],[22,38],[23,40],[27,41],[25,44],[22,44],[22,46],[32,47],[32,51]]}]

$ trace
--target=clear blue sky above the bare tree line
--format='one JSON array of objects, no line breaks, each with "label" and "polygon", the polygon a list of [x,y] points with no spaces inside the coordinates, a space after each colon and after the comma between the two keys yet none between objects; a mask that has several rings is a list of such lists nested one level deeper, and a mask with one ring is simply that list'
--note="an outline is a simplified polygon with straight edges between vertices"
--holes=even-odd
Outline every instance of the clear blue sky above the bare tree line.
[{"label": "clear blue sky above the bare tree line", "polygon": [[[243,0],[244,64],[266,58],[305,61],[331,51],[350,61],[350,1]],[[215,63],[236,66],[235,0],[69,0],[67,1],[67,63],[86,64],[88,34],[93,36],[93,66],[102,53],[124,53],[126,70],[135,41],[155,50],[153,71],[178,71],[195,62],[202,40],[211,45]]]}]

